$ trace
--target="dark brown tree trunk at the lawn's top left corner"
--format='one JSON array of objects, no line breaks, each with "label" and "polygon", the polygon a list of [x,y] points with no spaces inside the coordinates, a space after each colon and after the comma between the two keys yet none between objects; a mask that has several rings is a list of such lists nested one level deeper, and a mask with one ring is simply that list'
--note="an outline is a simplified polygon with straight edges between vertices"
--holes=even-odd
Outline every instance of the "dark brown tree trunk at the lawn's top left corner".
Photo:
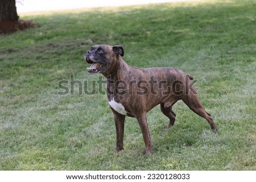
[{"label": "dark brown tree trunk at the lawn's top left corner", "polygon": [[0,22],[18,22],[15,0],[0,0]]}]

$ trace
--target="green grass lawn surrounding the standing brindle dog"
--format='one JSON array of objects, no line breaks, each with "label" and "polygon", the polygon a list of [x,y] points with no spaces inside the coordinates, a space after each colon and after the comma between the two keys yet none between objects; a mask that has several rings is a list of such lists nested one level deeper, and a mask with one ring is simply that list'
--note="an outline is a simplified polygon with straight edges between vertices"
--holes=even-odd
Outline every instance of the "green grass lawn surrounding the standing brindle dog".
[{"label": "green grass lawn surrounding the standing brindle dog", "polygon": [[[22,15],[33,29],[0,35],[0,170],[256,170],[256,1],[165,3]],[[97,80],[85,50],[123,45],[130,65],[192,74],[213,133],[184,103],[174,127],[147,113],[145,156],[138,123],[126,118],[115,154],[106,95],[57,95],[58,82]]]}]

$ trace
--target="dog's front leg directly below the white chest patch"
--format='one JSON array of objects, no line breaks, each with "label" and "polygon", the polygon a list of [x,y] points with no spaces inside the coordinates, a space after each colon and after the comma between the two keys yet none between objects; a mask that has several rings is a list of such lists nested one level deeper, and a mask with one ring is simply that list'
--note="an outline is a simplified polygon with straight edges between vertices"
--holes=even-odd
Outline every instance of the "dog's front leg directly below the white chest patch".
[{"label": "dog's front leg directly below the white chest patch", "polygon": [[[112,107],[110,107],[112,109]],[[125,131],[125,116],[119,114],[114,109],[112,109],[115,120],[115,131],[117,133],[117,147],[115,151],[118,153],[123,150],[123,133]]]}]

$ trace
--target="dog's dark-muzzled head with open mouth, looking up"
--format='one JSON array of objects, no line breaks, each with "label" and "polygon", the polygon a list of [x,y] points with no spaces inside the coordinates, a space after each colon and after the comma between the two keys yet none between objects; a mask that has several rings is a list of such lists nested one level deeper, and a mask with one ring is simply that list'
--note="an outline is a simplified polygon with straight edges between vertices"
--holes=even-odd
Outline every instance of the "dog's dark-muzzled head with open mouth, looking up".
[{"label": "dog's dark-muzzled head with open mouth, looking up", "polygon": [[87,68],[88,73],[110,72],[110,69],[118,61],[118,57],[123,56],[123,48],[120,45],[94,45],[84,56],[85,61],[91,64]]}]

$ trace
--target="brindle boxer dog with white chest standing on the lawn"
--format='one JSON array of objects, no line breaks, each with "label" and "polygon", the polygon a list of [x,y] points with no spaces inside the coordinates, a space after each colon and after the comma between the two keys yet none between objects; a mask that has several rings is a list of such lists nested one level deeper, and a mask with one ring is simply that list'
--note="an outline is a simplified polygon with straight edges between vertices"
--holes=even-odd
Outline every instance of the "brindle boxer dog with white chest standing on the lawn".
[{"label": "brindle boxer dog with white chest standing on the lawn", "polygon": [[146,154],[152,153],[152,142],[148,131],[146,113],[160,104],[160,109],[170,120],[168,128],[175,122],[172,105],[183,100],[197,115],[205,118],[217,131],[211,115],[205,111],[193,86],[193,77],[172,67],[131,67],[122,60],[120,45],[94,45],[84,56],[90,64],[88,73],[101,73],[106,78],[106,92],[114,115],[117,137],[116,152],[123,150],[125,117],[135,117],[142,131]]}]

